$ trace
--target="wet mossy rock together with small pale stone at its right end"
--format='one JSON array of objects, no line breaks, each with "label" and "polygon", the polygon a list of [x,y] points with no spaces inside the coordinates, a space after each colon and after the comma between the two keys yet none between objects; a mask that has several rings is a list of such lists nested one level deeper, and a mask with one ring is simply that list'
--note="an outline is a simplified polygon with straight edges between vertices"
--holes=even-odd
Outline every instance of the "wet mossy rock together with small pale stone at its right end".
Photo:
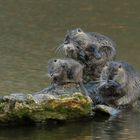
[{"label": "wet mossy rock together with small pale stone at its right end", "polygon": [[[88,88],[90,91],[90,86]],[[95,96],[85,96],[80,86],[73,83],[52,85],[33,94],[1,96],[0,125],[76,121],[94,119],[98,114],[102,114],[101,117],[117,116],[121,112],[111,106],[96,104],[97,101],[94,103]]]}]

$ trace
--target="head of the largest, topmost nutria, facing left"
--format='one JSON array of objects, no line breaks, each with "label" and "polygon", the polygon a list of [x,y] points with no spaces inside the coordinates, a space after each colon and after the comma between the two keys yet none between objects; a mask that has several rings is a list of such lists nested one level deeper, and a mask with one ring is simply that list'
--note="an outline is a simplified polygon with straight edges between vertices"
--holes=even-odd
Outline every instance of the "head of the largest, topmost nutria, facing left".
[{"label": "head of the largest, topmost nutria, facing left", "polygon": [[63,42],[65,55],[74,59],[78,59],[79,56],[85,57],[84,48],[89,44],[89,40],[80,28],[68,31]]}]

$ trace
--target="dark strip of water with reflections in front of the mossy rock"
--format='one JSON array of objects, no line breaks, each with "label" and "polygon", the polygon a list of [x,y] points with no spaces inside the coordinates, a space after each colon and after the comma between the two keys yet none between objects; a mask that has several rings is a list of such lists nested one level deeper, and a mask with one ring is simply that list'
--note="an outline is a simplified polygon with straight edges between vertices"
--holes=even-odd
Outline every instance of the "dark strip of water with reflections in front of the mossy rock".
[{"label": "dark strip of water with reflections in front of the mossy rock", "polygon": [[[115,120],[93,120],[51,126],[0,128],[1,140],[139,140],[140,114],[126,113]],[[8,135],[7,135],[8,134]]]}]

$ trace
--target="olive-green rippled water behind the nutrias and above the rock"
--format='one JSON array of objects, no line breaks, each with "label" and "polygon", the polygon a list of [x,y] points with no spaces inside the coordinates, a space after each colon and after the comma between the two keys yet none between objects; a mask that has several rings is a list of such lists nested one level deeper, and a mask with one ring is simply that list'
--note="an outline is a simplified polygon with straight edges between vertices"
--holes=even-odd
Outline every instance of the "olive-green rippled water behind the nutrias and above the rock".
[{"label": "olive-green rippled water behind the nutrias and above the rock", "polygon": [[49,84],[47,60],[68,29],[112,37],[118,58],[140,70],[140,2],[0,0],[0,93],[32,93]]}]

